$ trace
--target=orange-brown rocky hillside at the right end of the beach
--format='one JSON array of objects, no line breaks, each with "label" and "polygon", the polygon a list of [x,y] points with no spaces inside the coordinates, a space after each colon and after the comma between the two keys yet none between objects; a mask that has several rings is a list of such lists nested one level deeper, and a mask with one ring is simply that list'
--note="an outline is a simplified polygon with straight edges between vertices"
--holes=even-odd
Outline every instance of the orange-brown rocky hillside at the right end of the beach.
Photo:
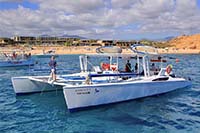
[{"label": "orange-brown rocky hillside at the right end of the beach", "polygon": [[200,34],[182,35],[167,42],[170,46],[178,49],[200,50]]}]

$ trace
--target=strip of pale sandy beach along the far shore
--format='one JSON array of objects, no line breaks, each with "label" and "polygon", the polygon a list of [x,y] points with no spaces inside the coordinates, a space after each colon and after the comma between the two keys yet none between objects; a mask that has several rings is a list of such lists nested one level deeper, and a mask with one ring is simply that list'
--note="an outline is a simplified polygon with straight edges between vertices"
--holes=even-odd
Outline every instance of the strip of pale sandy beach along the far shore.
[{"label": "strip of pale sandy beach along the far shore", "polygon": [[[0,51],[26,51],[32,55],[41,55],[44,52],[54,50],[55,54],[93,54],[96,53],[96,48],[99,46],[33,46],[33,47],[22,47],[22,46],[8,46],[0,47]],[[132,51],[129,49],[123,49],[122,53],[131,54]],[[177,49],[174,47],[158,49],[159,54],[200,54],[200,49]]]}]

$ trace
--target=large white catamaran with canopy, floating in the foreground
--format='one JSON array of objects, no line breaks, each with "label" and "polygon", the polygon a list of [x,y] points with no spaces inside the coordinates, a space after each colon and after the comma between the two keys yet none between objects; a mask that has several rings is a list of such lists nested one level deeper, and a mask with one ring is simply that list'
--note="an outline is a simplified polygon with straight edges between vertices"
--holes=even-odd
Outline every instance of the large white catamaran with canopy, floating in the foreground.
[{"label": "large white catamaran with canopy, floating in the foreground", "polygon": [[[63,90],[69,111],[133,100],[191,86],[191,81],[172,74],[171,65],[153,72],[155,70],[152,70],[149,64],[152,56],[157,54],[155,48],[133,45],[131,50],[132,54],[101,52],[81,55],[81,72],[58,75],[54,82],[49,82],[49,76],[24,76],[13,77],[12,84],[16,94]],[[101,66],[94,65],[94,62],[90,62],[92,57],[105,58],[108,62],[102,62]],[[135,68],[128,72],[122,69],[120,65],[124,64],[123,60],[133,60]],[[163,63],[162,58],[159,57],[158,60]]]}]

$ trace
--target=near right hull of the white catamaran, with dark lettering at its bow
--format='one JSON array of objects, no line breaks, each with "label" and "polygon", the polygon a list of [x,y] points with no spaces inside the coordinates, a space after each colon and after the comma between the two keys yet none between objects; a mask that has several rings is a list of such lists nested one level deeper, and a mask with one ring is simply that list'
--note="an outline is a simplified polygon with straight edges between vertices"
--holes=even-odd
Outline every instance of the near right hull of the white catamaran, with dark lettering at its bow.
[{"label": "near right hull of the white catamaran, with dark lettering at its bow", "polygon": [[65,101],[70,111],[122,102],[136,98],[170,92],[190,86],[191,82],[184,79],[176,81],[132,81],[126,83],[110,83],[109,85],[85,85],[81,87],[66,86],[63,89]]}]

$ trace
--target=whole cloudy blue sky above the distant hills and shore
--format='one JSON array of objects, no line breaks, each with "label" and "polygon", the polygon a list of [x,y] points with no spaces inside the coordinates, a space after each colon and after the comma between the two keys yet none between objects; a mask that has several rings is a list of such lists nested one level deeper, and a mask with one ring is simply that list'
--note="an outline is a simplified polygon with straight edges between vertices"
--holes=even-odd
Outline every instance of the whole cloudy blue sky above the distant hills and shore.
[{"label": "whole cloudy blue sky above the distant hills and shore", "polygon": [[162,39],[200,32],[200,0],[0,0],[0,36]]}]

